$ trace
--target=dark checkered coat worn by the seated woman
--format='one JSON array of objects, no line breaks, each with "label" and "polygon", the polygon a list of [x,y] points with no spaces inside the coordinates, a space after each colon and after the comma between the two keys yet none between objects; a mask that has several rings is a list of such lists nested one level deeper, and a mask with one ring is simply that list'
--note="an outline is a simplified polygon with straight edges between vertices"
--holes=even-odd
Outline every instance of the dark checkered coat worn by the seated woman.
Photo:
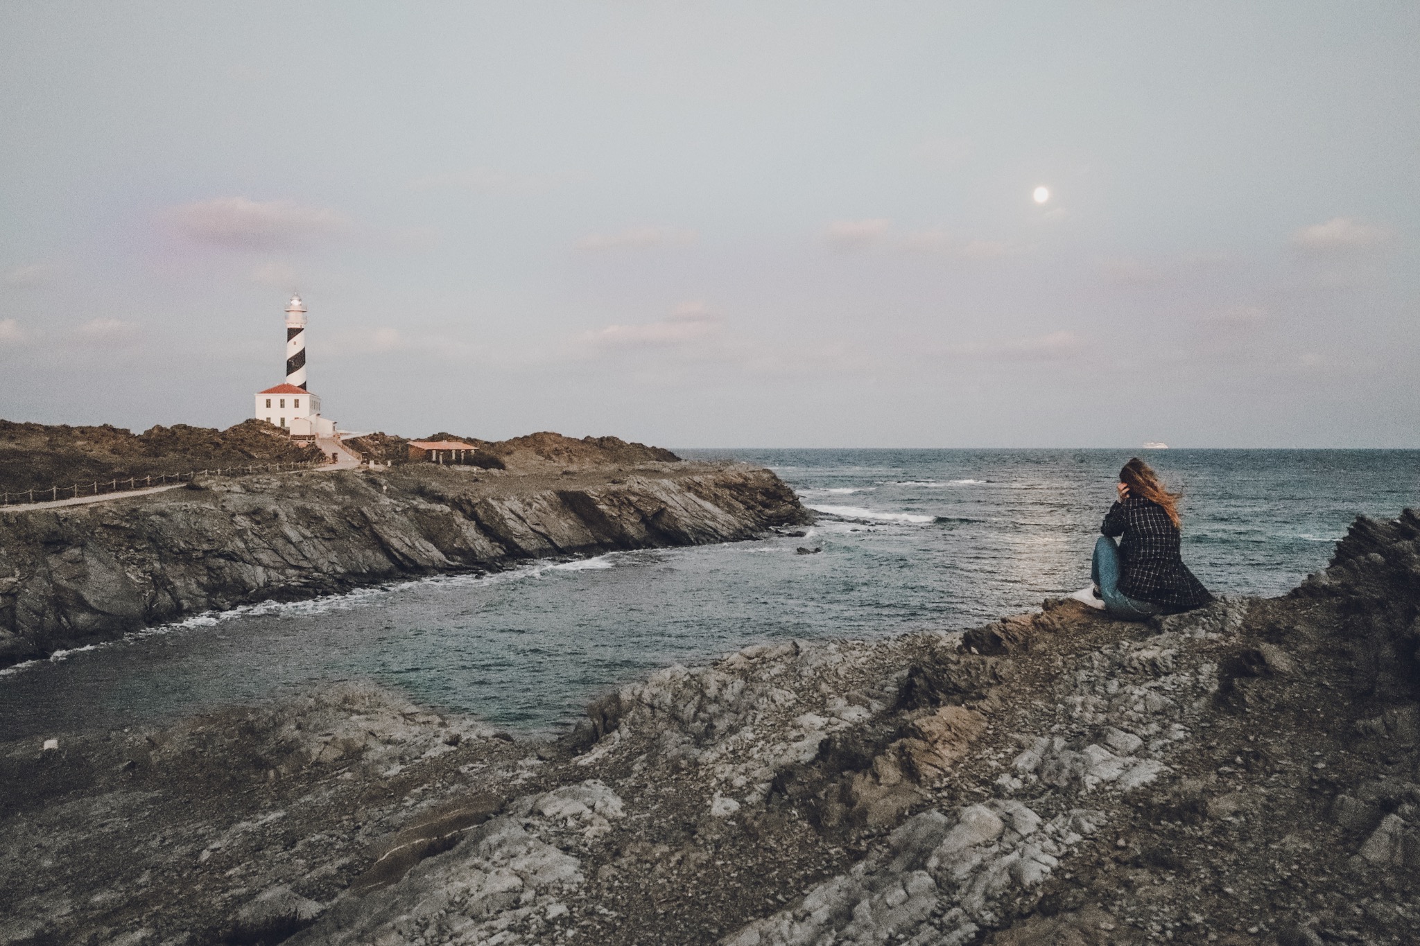
[{"label": "dark checkered coat worn by the seated woman", "polygon": [[1164,613],[1189,611],[1213,600],[1179,555],[1179,528],[1157,502],[1129,496],[1105,515],[1099,530],[1119,540],[1119,590],[1157,604]]}]

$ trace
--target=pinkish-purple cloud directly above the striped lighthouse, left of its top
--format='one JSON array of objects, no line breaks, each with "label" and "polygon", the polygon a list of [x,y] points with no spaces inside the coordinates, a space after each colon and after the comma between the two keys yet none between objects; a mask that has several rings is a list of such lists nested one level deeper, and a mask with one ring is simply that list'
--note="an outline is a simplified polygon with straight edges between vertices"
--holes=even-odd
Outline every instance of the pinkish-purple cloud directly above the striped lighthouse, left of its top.
[{"label": "pinkish-purple cloud directly above the striped lighthouse, left of its top", "polygon": [[214,197],[169,207],[163,218],[196,243],[229,250],[273,250],[345,230],[349,223],[324,207],[290,200]]}]

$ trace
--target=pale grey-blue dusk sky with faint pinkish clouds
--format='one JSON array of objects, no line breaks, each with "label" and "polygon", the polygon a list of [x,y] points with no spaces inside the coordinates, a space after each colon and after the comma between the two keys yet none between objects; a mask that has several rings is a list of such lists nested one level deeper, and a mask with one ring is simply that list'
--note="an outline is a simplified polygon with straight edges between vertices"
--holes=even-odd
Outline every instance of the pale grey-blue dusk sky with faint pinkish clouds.
[{"label": "pale grey-blue dusk sky with faint pinkish clouds", "polygon": [[[1420,4],[0,4],[0,417],[1420,447]],[[1044,203],[1035,190],[1049,191]]]}]

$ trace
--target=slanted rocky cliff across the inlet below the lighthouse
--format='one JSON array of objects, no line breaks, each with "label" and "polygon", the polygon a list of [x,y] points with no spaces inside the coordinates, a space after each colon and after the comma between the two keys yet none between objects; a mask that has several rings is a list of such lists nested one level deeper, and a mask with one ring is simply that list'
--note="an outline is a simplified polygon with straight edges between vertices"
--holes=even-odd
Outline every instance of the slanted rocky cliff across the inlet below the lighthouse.
[{"label": "slanted rocky cliff across the inlet below the lighthouse", "polygon": [[805,516],[767,469],[683,462],[551,474],[410,464],[0,509],[0,662],[248,601],[538,556],[726,542]]}]

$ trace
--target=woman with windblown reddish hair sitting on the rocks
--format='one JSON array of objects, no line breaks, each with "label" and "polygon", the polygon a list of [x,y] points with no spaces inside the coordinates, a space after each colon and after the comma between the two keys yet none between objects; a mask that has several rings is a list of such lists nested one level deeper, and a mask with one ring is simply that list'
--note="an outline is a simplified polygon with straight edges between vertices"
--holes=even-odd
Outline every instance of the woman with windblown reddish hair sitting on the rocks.
[{"label": "woman with windblown reddish hair sitting on the rocks", "polygon": [[[1149,464],[1135,457],[1119,471],[1119,501],[1095,542],[1093,597],[1126,621],[1177,614],[1213,600],[1179,555],[1180,492],[1169,492]],[[1115,545],[1112,536],[1122,536]],[[1100,607],[1093,601],[1095,607]]]}]

